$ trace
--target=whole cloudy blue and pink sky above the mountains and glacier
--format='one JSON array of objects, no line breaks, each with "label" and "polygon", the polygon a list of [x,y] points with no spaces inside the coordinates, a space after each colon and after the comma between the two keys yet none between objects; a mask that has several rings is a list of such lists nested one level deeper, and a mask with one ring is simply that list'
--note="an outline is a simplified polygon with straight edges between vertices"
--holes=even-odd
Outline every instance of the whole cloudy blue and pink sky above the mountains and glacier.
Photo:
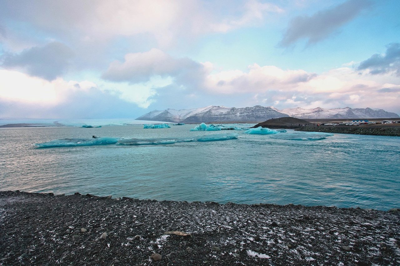
[{"label": "whole cloudy blue and pink sky above the mountains and glacier", "polygon": [[400,114],[398,0],[0,0],[0,118]]}]

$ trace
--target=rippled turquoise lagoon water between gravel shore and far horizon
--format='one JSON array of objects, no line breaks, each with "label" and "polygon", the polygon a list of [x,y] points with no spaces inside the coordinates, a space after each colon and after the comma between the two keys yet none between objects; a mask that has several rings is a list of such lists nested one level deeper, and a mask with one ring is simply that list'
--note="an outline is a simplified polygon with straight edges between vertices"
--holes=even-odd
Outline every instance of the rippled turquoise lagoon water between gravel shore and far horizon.
[{"label": "rippled turquoise lagoon water between gravel shore and far horizon", "polygon": [[[0,190],[380,210],[400,206],[399,137],[334,134],[297,141],[244,131],[189,131],[194,126],[2,128]],[[230,133],[238,139],[46,149],[33,145],[92,135],[148,139]]]}]

